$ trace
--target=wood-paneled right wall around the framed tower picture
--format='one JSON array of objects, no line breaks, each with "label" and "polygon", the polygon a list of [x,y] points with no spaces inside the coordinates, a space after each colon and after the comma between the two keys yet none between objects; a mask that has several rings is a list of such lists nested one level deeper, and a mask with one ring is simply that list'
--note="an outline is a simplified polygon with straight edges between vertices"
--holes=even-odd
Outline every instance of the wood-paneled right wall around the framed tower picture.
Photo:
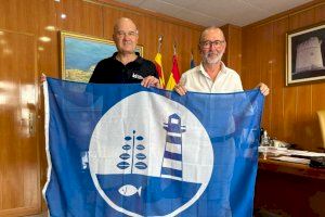
[{"label": "wood-paneled right wall around the framed tower picture", "polygon": [[314,1],[243,28],[244,87],[271,88],[262,126],[272,137],[306,150],[322,146],[317,110],[325,108],[325,82],[285,86],[286,33],[325,21],[325,1]]}]

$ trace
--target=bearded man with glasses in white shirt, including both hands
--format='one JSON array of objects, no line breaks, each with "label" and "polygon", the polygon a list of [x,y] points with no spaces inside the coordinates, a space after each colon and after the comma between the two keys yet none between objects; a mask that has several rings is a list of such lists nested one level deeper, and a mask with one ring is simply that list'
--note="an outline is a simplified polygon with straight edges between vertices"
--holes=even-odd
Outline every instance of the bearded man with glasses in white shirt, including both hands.
[{"label": "bearded man with glasses in white shirt, including both hands", "polygon": [[[185,72],[174,90],[181,95],[187,90],[208,93],[243,91],[239,75],[221,61],[225,47],[224,35],[220,28],[214,26],[206,28],[200,35],[198,44],[202,63]],[[266,85],[261,82],[257,87],[264,95],[269,94]]]}]

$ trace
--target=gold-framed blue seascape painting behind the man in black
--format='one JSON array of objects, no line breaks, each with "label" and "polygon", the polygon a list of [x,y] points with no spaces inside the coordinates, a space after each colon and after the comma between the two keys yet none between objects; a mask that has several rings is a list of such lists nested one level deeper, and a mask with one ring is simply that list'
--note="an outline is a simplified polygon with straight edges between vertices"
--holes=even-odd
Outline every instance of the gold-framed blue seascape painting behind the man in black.
[{"label": "gold-framed blue seascape painting behind the man in black", "polygon": [[[115,42],[91,36],[60,31],[61,75],[64,80],[88,82],[98,62],[117,51]],[[143,47],[136,46],[143,56]]]}]

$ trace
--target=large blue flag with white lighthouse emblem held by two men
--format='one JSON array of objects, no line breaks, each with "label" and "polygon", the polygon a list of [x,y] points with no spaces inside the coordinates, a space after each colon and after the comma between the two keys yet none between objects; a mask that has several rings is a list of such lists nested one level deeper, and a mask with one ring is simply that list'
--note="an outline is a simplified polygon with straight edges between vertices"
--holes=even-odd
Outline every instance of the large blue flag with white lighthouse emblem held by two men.
[{"label": "large blue flag with white lighthouse emblem held by two men", "polygon": [[51,216],[252,216],[259,90],[44,82]]}]

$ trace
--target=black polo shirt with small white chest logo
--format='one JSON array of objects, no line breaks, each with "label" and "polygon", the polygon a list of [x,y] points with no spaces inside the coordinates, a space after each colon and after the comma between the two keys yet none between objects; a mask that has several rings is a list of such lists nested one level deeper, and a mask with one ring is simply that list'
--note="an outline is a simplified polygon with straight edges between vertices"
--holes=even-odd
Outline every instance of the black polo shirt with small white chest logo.
[{"label": "black polo shirt with small white chest logo", "polygon": [[153,62],[145,60],[135,53],[138,58],[123,65],[116,60],[117,52],[108,59],[100,61],[93,71],[89,82],[95,84],[132,84],[141,82],[147,76],[158,78],[156,66]]}]

